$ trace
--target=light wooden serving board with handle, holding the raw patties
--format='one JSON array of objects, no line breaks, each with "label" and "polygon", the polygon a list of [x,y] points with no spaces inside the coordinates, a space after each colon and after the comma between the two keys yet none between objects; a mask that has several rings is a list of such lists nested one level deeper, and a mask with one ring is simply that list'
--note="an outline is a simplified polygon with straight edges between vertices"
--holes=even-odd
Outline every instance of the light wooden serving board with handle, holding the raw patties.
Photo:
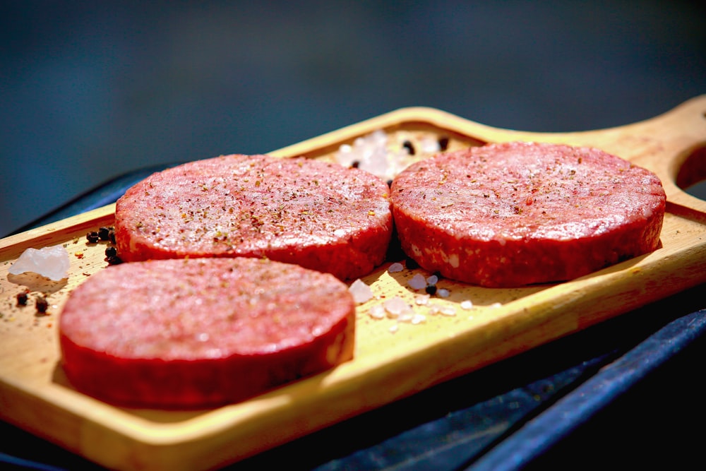
[{"label": "light wooden serving board with handle, holding the raw patties", "polygon": [[[291,441],[436,383],[524,352],[706,281],[706,201],[684,186],[706,176],[706,95],[628,126],[575,133],[496,129],[429,108],[405,108],[273,152],[330,159],[344,143],[382,129],[390,145],[450,139],[449,148],[484,142],[590,145],[659,175],[667,194],[662,246],[556,285],[488,289],[441,280],[448,297],[418,304],[407,282],[420,269],[389,273],[390,260],[364,281],[376,295],[357,309],[355,359],[337,368],[213,410],[113,407],[78,393],[59,366],[61,306],[80,282],[107,266],[105,242],[86,232],[112,225],[114,205],[0,240],[0,416],[105,467],[196,470],[219,467]],[[424,155],[417,156],[417,158]],[[71,258],[61,282],[10,275],[29,247],[64,244]],[[26,306],[16,295],[30,290]],[[35,299],[49,308],[37,312]],[[373,318],[371,306],[401,297],[418,322]],[[469,306],[465,301],[472,302]]]}]

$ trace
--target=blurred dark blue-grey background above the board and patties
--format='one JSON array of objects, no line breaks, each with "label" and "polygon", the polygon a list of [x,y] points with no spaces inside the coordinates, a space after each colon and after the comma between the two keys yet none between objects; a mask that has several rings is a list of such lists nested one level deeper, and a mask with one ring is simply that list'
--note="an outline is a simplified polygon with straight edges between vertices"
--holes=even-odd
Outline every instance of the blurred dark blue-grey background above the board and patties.
[{"label": "blurred dark blue-grey background above the board and patties", "polygon": [[704,93],[697,2],[4,1],[0,237],[133,169],[400,107],[582,131]]}]

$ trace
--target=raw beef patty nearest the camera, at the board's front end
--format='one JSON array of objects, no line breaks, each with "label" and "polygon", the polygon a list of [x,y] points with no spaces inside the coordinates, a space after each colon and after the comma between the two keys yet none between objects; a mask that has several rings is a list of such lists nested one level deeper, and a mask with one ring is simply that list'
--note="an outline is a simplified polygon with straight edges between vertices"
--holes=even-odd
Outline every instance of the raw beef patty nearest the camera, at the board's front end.
[{"label": "raw beef patty nearest the camera, at the board's front end", "polygon": [[261,258],[109,266],[71,292],[62,365],[108,403],[232,403],[352,358],[355,306],[333,275]]}]

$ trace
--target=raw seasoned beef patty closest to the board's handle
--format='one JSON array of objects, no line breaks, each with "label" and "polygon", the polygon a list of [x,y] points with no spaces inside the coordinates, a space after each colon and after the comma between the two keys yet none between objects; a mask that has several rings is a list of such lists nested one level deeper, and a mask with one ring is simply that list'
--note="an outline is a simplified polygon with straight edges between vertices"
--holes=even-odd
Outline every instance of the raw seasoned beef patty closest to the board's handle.
[{"label": "raw seasoned beef patty closest to the board's handle", "polygon": [[556,282],[657,249],[662,183],[594,148],[501,143],[439,154],[393,181],[402,249],[486,287]]}]

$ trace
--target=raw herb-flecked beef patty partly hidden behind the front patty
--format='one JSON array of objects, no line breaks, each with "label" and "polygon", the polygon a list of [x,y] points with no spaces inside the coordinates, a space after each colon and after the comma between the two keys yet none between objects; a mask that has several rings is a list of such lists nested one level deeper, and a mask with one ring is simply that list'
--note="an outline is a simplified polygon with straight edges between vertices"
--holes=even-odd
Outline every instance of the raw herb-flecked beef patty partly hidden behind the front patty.
[{"label": "raw herb-flecked beef patty partly hidden behind the front patty", "polygon": [[198,160],[126,191],[116,203],[116,246],[124,261],[268,257],[354,279],[385,259],[388,191],[373,174],[317,160]]}]

